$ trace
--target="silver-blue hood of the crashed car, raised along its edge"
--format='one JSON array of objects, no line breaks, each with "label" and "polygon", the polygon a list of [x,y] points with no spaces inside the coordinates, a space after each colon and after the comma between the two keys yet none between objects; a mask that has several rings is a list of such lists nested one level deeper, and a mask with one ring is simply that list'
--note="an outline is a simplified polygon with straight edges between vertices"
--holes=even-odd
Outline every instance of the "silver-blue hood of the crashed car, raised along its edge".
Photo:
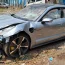
[{"label": "silver-blue hood of the crashed car, raised along its edge", "polygon": [[0,29],[13,25],[13,24],[19,24],[23,22],[28,22],[28,21],[17,19],[10,15],[0,15]]}]

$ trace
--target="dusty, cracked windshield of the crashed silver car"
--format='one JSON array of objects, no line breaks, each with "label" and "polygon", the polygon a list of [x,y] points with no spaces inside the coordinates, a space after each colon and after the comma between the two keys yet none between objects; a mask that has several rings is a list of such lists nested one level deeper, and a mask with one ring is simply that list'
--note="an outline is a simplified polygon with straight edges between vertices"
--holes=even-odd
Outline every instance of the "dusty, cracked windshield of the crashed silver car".
[{"label": "dusty, cracked windshield of the crashed silver car", "polygon": [[27,20],[36,20],[45,11],[45,9],[46,6],[43,5],[27,6],[20,12],[16,13],[15,16]]}]

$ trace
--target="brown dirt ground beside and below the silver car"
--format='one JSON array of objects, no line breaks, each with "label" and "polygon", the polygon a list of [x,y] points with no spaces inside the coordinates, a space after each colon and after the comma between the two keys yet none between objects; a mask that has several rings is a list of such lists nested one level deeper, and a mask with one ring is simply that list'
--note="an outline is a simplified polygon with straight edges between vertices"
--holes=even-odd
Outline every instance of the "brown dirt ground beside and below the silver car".
[{"label": "brown dirt ground beside and below the silver car", "polygon": [[[58,41],[31,49],[16,60],[6,59],[5,65],[65,65],[65,41]],[[50,60],[52,57],[52,61]]]}]

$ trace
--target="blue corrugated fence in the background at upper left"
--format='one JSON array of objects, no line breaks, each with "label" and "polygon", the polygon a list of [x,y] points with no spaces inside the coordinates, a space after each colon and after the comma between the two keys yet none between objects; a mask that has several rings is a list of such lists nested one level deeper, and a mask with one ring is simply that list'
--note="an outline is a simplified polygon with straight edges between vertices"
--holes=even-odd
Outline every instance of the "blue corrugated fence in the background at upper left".
[{"label": "blue corrugated fence in the background at upper left", "polygon": [[9,6],[26,6],[27,0],[0,0],[0,2],[8,3]]}]

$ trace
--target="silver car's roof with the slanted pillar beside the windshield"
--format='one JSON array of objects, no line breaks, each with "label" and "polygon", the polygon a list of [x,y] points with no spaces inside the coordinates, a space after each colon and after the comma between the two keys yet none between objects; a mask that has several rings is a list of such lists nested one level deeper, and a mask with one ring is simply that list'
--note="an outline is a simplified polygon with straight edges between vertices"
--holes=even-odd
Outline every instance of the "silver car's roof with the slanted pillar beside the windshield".
[{"label": "silver car's roof with the slanted pillar beside the windshield", "polygon": [[54,8],[65,8],[65,5],[60,5],[60,4],[44,4],[44,3],[41,3],[41,4],[34,4],[34,5],[31,5],[31,6],[42,6],[42,7],[45,7],[46,8],[46,10],[44,11],[44,13],[36,20],[36,21],[39,21],[40,20],[40,18],[42,17],[42,16],[44,16],[49,10],[51,10],[51,9],[54,9]]}]

